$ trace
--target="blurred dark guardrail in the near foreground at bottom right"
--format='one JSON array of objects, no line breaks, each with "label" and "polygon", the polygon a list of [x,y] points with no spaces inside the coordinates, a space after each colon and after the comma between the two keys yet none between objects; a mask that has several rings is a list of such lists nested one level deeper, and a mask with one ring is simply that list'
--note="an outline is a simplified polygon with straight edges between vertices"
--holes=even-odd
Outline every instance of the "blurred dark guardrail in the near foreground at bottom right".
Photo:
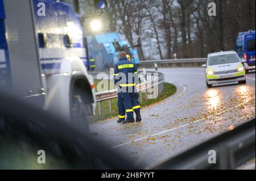
[{"label": "blurred dark guardrail in the near foreground at bottom right", "polygon": [[[213,155],[214,153],[216,155]],[[212,160],[214,156],[216,156],[215,161]],[[253,158],[255,158],[255,119],[177,155],[156,166],[155,169],[230,170],[237,169]]]}]

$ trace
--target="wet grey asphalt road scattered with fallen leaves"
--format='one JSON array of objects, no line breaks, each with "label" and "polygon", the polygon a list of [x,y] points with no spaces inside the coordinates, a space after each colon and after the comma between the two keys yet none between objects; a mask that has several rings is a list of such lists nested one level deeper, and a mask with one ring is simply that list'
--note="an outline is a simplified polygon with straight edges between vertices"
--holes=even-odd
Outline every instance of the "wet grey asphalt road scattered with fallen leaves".
[{"label": "wet grey asphalt road scattered with fallen leaves", "polygon": [[116,119],[90,125],[97,138],[134,160],[154,167],[175,155],[255,117],[255,73],[247,84],[208,89],[203,68],[166,68],[165,82],[175,95],[142,109],[142,123],[117,124]]}]

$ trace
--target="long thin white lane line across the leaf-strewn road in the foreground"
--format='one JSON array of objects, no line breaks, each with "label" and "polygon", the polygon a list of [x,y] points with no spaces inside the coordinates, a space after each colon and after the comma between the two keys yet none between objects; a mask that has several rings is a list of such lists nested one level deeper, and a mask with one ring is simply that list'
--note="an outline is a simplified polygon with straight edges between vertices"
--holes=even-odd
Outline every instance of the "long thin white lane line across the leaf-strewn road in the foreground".
[{"label": "long thin white lane line across the leaf-strewn road in the foreground", "polygon": [[222,113],[224,113],[224,112],[226,112],[226,111],[228,111],[228,110],[230,110],[230,109],[234,109],[234,108],[237,108],[237,107],[239,107],[239,106],[241,106],[241,105],[243,105],[243,104],[246,104],[246,103],[248,103],[248,102],[249,102],[250,100],[252,100],[252,99],[253,99],[253,98],[247,100],[247,101],[244,102],[244,103],[238,104],[238,105],[235,106],[235,107],[232,107],[232,108],[229,108],[229,109],[227,109],[227,110],[218,112],[218,113],[216,113],[215,115],[210,115],[210,116],[208,116],[207,118],[199,119],[199,120],[193,121],[192,123],[187,123],[187,124],[181,125],[180,127],[176,127],[176,128],[172,128],[172,129],[167,129],[167,130],[165,130],[165,131],[162,131],[162,132],[159,132],[159,133],[155,133],[155,134],[151,134],[150,136],[145,136],[145,137],[142,137],[142,138],[138,138],[138,139],[133,140],[133,141],[125,142],[125,143],[123,143],[123,144],[119,144],[119,145],[113,146],[112,149],[115,149],[115,148],[118,148],[118,147],[121,147],[121,146],[125,146],[125,145],[131,144],[131,143],[133,143],[133,142],[138,142],[138,141],[141,141],[141,140],[145,140],[145,139],[150,138],[150,137],[158,136],[158,135],[160,135],[160,134],[164,134],[164,133],[168,133],[168,132],[171,132],[171,131],[175,131],[176,129],[184,128],[184,127],[187,127],[187,126],[192,125],[192,124],[196,124],[196,123],[198,123],[198,122],[200,122],[200,121],[207,120],[207,119],[209,119],[209,118],[211,118],[211,117],[213,117],[213,116],[221,115]]}]

